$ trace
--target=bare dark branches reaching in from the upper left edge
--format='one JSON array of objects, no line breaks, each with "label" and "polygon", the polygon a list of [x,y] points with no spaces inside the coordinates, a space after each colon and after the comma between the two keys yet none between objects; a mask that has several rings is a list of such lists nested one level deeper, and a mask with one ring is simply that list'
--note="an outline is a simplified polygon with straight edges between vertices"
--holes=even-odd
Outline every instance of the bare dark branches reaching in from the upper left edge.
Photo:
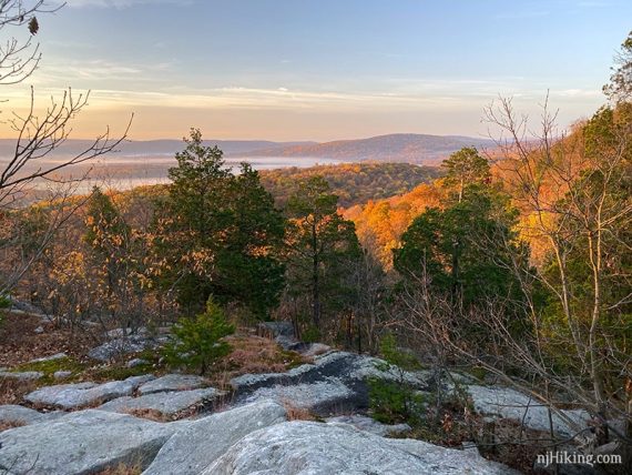
[{"label": "bare dark branches reaching in from the upper left edge", "polygon": [[[39,44],[32,38],[39,31],[39,14],[53,13],[64,3],[49,4],[44,0],[0,0],[0,33],[9,33],[4,43],[0,43],[0,85],[8,87],[24,81],[37,69],[41,53]],[[24,29],[20,30],[22,27]],[[26,39],[21,39],[28,34]],[[128,135],[131,119],[123,134],[111,138],[109,128],[91,141],[83,150],[73,151],[62,160],[51,161],[50,155],[64,145],[72,130],[75,117],[88,105],[89,93],[73,95],[69,89],[61,99],[51,101],[43,112],[35,108],[34,91],[31,88],[30,105],[26,113],[12,112],[8,119],[10,129],[16,133],[16,145],[9,156],[0,158],[0,224],[4,233],[11,229],[9,218],[11,209],[23,204],[22,199],[37,186],[45,183],[59,184],[58,192],[49,198],[51,202],[65,202],[73,182],[85,179],[58,175],[63,169],[71,168],[105,155],[116,149]],[[64,212],[50,220],[50,228],[41,235],[39,251],[2,279],[0,294],[10,291],[39,259],[54,232],[68,220],[68,211],[73,208],[59,205]],[[19,233],[18,233],[19,234]],[[14,244],[16,236],[3,235],[3,245]]]}]

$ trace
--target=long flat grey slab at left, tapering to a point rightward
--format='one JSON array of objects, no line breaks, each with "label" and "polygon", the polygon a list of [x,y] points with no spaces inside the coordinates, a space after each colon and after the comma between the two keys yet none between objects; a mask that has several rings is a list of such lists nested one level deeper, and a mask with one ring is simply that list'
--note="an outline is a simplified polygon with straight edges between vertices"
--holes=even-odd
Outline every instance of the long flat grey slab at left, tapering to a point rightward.
[{"label": "long flat grey slab at left, tapering to a point rightward", "polygon": [[47,386],[24,396],[24,401],[40,407],[55,407],[64,411],[79,410],[103,404],[116,397],[131,395],[153,375],[132,376],[124,381],[109,383],[75,383]]}]

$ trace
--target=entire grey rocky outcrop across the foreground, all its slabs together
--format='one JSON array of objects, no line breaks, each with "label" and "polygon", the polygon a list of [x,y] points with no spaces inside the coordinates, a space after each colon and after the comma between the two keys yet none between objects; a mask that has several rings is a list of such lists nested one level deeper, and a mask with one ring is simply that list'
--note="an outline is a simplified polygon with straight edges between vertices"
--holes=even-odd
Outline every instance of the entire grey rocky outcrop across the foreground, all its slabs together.
[{"label": "entire grey rocky outcrop across the foreground, all its slabs together", "polygon": [[[313,350],[313,347],[312,347]],[[41,387],[24,404],[0,406],[0,474],[93,474],[120,466],[157,474],[511,474],[476,451],[405,436],[405,424],[367,417],[367,378],[404,377],[430,391],[429,372],[379,370],[379,360],[318,348],[287,373],[248,374],[232,391],[200,376],[151,374],[96,384]],[[542,429],[548,411],[511,388],[457,378],[478,413]],[[298,410],[298,411],[297,411]],[[305,414],[318,421],[290,421]],[[561,412],[554,428],[588,415]],[[133,472],[133,473],[135,473]]]}]

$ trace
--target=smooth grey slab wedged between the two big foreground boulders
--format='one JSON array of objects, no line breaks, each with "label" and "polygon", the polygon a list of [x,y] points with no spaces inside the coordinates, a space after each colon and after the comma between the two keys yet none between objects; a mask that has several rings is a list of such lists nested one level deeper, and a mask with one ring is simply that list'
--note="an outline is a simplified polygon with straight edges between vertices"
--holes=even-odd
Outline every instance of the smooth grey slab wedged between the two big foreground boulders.
[{"label": "smooth grey slab wedged between the two big foreground boulders", "polygon": [[285,421],[285,410],[273,401],[201,418],[171,437],[143,475],[196,475],[242,437]]}]

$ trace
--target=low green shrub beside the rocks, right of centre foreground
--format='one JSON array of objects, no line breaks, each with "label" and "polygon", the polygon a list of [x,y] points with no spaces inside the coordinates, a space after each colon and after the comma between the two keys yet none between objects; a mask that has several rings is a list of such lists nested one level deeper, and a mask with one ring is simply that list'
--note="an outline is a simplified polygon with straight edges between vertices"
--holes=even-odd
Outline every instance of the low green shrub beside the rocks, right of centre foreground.
[{"label": "low green shrub beside the rocks, right of centre foreground", "polygon": [[407,381],[406,372],[419,370],[419,362],[414,355],[398,350],[396,340],[390,334],[381,340],[380,350],[385,362],[376,364],[376,367],[395,374],[396,377],[368,380],[371,414],[375,420],[387,424],[407,422],[417,425],[426,401]]}]

